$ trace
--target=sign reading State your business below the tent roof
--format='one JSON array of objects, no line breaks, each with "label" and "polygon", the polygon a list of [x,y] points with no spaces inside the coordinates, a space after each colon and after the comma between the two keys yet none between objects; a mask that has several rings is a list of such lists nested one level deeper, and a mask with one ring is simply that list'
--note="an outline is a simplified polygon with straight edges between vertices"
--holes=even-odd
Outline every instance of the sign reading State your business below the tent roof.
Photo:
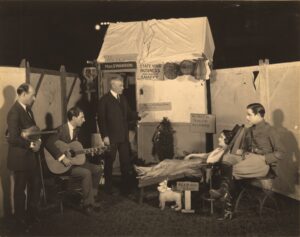
[{"label": "sign reading State your business below the tent roof", "polygon": [[141,80],[163,80],[163,65],[162,64],[140,64]]}]

